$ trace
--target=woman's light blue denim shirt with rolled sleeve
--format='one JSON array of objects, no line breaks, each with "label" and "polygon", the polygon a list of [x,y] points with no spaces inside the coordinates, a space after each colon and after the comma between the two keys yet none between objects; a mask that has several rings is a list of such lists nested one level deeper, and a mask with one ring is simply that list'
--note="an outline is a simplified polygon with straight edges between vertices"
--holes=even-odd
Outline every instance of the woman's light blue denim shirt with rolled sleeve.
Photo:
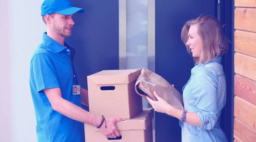
[{"label": "woman's light blue denim shirt with rolled sleeve", "polygon": [[221,57],[193,67],[182,90],[184,109],[197,113],[201,121],[201,127],[180,122],[182,142],[227,142],[218,123],[226,104],[226,78]]}]

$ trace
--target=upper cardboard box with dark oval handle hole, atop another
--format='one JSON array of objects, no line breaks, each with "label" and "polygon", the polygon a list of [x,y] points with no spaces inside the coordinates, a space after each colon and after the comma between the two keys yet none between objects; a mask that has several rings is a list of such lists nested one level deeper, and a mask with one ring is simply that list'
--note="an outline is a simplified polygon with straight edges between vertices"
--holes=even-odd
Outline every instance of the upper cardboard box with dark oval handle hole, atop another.
[{"label": "upper cardboard box with dark oval handle hole, atop another", "polygon": [[87,76],[89,111],[99,116],[131,119],[143,110],[135,91],[140,70],[103,70]]}]

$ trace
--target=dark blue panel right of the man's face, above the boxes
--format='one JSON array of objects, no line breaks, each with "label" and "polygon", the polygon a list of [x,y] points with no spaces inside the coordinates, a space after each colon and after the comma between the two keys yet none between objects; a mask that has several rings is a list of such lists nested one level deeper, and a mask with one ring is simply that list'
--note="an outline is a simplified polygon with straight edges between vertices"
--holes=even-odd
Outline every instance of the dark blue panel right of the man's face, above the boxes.
[{"label": "dark blue panel right of the man's face, above the boxes", "polygon": [[119,69],[118,0],[70,0],[84,13],[73,16],[75,25],[67,38],[75,49],[81,87],[87,89],[87,75]]}]

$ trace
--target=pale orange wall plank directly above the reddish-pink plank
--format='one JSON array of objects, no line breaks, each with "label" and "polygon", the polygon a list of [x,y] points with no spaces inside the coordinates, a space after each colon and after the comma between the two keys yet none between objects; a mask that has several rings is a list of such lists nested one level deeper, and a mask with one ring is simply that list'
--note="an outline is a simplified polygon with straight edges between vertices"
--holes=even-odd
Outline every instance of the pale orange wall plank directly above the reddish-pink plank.
[{"label": "pale orange wall plank directly above the reddish-pink plank", "polygon": [[235,72],[256,81],[256,58],[239,52],[235,53],[234,58]]}]

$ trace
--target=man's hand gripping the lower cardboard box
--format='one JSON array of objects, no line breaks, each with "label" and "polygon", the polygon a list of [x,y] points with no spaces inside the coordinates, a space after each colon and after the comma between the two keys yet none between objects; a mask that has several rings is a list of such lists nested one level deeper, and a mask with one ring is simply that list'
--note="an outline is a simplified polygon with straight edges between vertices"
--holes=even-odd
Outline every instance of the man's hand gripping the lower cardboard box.
[{"label": "man's hand gripping the lower cardboard box", "polygon": [[116,122],[123,121],[124,119],[118,118],[105,118],[106,126],[105,128],[105,122],[103,122],[102,126],[99,128],[99,130],[108,138],[116,138],[117,136],[121,136],[119,133],[119,130],[116,128]]}]

